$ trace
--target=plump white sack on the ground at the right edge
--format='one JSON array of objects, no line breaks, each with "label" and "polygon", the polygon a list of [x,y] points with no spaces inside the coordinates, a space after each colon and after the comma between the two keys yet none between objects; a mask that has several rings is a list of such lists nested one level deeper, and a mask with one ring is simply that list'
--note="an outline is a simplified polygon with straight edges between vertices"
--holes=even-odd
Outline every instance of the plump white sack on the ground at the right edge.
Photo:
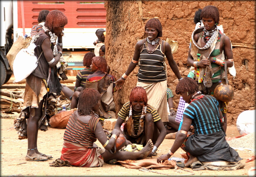
[{"label": "plump white sack on the ground at the right edge", "polygon": [[237,117],[237,130],[240,135],[255,132],[255,111],[256,110],[243,111]]}]

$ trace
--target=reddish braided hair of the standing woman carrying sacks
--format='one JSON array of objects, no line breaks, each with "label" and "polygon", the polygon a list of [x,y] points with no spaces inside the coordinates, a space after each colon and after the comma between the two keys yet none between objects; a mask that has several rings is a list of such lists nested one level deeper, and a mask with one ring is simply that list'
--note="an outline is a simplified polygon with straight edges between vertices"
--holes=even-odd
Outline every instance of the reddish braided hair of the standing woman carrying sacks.
[{"label": "reddish braided hair of the standing woman carrying sacks", "polygon": [[46,26],[49,30],[53,30],[54,28],[65,26],[68,24],[68,19],[66,15],[64,15],[59,10],[50,11],[46,16],[46,21],[44,26]]}]

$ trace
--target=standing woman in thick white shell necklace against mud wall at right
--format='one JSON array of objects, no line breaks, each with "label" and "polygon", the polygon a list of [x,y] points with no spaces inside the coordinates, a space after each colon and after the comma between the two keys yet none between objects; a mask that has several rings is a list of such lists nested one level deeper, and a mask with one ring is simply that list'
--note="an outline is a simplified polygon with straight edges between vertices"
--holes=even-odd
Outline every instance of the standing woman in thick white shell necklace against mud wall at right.
[{"label": "standing woman in thick white shell necklace against mud wall at right", "polygon": [[[223,84],[225,84],[223,66],[233,66],[233,53],[229,37],[217,29],[217,24],[220,20],[217,7],[204,7],[200,19],[204,27],[196,29],[192,33],[187,63],[195,67],[195,78],[198,82],[199,90],[204,94],[213,96],[213,91],[219,84],[219,81],[222,80]],[[224,61],[225,57],[227,59]],[[219,102],[220,109],[225,118],[224,130],[226,131],[226,103]]]}]

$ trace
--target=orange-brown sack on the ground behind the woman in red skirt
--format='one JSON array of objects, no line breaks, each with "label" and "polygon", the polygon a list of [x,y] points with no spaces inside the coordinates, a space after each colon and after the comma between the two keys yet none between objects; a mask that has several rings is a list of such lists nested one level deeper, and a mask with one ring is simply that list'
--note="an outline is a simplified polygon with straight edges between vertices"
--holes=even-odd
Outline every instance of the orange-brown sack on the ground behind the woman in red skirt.
[{"label": "orange-brown sack on the ground behind the woman in red skirt", "polygon": [[69,111],[62,111],[60,113],[55,114],[50,118],[51,128],[66,128],[67,123],[69,121],[69,117],[72,113],[77,109],[71,109]]}]

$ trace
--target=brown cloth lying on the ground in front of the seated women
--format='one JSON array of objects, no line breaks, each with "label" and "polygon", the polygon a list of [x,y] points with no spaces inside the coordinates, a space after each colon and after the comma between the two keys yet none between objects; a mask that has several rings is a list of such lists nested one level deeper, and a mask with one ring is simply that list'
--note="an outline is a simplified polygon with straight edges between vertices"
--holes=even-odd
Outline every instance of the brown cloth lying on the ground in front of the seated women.
[{"label": "brown cloth lying on the ground in front of the seated women", "polygon": [[170,169],[174,168],[176,166],[176,162],[174,160],[171,161],[164,161],[163,163],[157,163],[156,158],[152,159],[143,159],[143,160],[136,160],[135,162],[129,163],[126,161],[117,161],[122,166],[126,168],[132,168],[132,169],[140,169],[140,168],[155,168],[155,169]]}]

